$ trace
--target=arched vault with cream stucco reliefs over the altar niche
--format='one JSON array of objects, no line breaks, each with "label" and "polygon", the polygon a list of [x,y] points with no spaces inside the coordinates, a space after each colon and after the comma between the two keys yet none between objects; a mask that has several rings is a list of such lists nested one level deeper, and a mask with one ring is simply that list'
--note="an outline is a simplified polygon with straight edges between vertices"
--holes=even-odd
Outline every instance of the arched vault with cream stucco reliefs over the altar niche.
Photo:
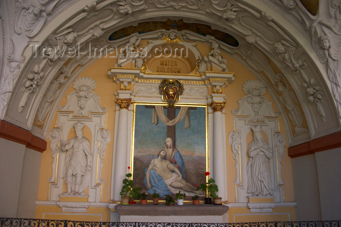
[{"label": "arched vault with cream stucco reliefs over the altar niche", "polygon": [[[76,76],[96,60],[67,57],[64,49],[46,47],[72,47],[77,52],[89,42],[117,46],[131,34],[143,38],[158,30],[183,31],[188,38],[195,34],[204,43],[217,40],[224,52],[266,84],[283,114],[290,145],[341,130],[341,1],[18,0],[0,4],[4,53],[0,116],[40,138],[46,138],[53,114],[47,115],[42,129],[33,122],[49,86],[55,86],[60,75],[65,78],[50,108],[54,113]],[[293,116],[296,106],[307,122],[306,132]]]}]

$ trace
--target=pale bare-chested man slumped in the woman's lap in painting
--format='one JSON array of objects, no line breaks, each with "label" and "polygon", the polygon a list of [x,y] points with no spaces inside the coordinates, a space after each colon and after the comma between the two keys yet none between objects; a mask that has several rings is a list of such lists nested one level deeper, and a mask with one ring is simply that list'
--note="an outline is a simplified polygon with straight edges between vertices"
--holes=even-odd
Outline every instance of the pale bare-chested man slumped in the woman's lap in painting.
[{"label": "pale bare-chested man slumped in the woman's lap in painting", "polygon": [[[152,188],[152,185],[150,183],[150,171],[153,169],[163,178],[165,184],[172,193],[176,193],[179,190],[181,190],[182,193],[197,193],[196,188],[182,178],[178,168],[172,165],[170,161],[166,159],[166,157],[166,151],[161,150],[157,154],[157,158],[152,159],[152,162],[146,172],[148,188]],[[174,172],[172,172],[171,170]]]}]

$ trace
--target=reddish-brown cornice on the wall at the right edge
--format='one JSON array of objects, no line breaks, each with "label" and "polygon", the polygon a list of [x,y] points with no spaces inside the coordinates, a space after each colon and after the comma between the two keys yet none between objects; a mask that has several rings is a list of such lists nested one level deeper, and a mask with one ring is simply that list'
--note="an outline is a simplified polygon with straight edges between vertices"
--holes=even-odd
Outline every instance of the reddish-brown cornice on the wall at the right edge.
[{"label": "reddish-brown cornice on the wall at the right edge", "polygon": [[296,158],[308,154],[313,154],[319,151],[326,151],[341,147],[341,132],[336,132],[309,142],[296,145],[288,148],[288,155],[291,158]]}]

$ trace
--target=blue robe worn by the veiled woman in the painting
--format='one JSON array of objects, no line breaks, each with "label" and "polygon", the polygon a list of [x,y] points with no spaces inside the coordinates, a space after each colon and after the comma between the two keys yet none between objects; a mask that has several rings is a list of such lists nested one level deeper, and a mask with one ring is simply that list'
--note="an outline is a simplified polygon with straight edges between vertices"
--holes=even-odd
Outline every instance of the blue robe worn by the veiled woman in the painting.
[{"label": "blue robe worn by the veiled woman in the painting", "polygon": [[[154,157],[154,159],[157,158],[157,156]],[[182,156],[180,154],[179,151],[175,151],[174,153],[174,159],[175,159],[175,162],[176,164],[179,165],[179,168],[178,170],[180,171],[181,175],[182,175],[182,178],[184,180],[186,180],[186,170],[185,170],[185,163],[184,163],[184,160],[182,159]],[[175,164],[172,163],[174,166]],[[145,170],[145,173],[147,172],[148,168],[146,168]],[[152,185],[152,189],[149,189],[147,192],[152,194],[154,193],[154,191],[156,191],[156,193],[159,193],[160,196],[165,196],[165,195],[171,195],[173,194],[170,189],[168,189],[167,185],[165,184],[165,182],[163,181],[163,178],[156,173],[155,170],[151,170],[150,171],[150,180],[149,182],[151,183]],[[147,178],[145,177],[145,179],[143,180],[143,183],[146,185],[147,189],[148,189],[148,186],[147,186]]]}]

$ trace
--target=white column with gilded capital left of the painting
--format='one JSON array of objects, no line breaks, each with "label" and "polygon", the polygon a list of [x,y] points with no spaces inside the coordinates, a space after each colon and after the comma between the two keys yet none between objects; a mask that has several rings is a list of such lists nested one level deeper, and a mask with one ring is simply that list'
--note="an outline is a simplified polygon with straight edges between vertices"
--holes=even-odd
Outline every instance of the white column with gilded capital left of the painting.
[{"label": "white column with gilded capital left of the painting", "polygon": [[118,126],[117,126],[117,144],[115,153],[114,167],[114,200],[121,200],[120,191],[122,189],[122,180],[127,174],[127,136],[128,136],[128,107],[131,99],[117,99],[120,105]]}]

